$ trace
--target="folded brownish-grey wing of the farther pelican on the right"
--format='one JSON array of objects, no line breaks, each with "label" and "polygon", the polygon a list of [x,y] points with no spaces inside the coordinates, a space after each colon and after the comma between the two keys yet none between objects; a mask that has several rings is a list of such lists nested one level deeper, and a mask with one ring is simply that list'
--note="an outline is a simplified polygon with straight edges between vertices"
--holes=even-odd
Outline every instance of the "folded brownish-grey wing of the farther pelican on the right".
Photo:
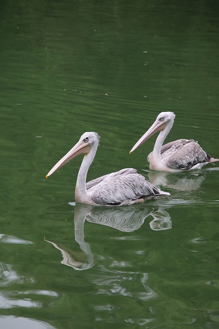
[{"label": "folded brownish-grey wing of the farther pelican on the right", "polygon": [[194,140],[188,140],[176,147],[173,145],[162,159],[165,157],[167,165],[173,169],[190,169],[197,163],[207,162],[211,158]]}]

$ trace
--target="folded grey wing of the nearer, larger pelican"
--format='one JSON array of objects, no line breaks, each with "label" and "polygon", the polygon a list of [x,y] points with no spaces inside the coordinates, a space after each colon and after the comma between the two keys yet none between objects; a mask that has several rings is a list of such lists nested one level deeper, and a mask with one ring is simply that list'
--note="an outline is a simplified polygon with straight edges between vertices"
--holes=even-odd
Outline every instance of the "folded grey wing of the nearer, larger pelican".
[{"label": "folded grey wing of the nearer, larger pelican", "polygon": [[[129,171],[135,173],[128,173]],[[144,176],[137,174],[136,170],[132,168],[108,175],[89,191],[92,192],[93,201],[99,205],[130,204],[131,200],[161,194],[160,190],[152,186]]]}]

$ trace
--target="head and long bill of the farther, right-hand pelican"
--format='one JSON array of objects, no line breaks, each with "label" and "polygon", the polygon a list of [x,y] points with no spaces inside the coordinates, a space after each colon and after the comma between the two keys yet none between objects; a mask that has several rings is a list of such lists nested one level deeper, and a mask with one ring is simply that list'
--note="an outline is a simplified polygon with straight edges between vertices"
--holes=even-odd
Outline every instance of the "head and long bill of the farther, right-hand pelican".
[{"label": "head and long bill of the farther, right-hand pelican", "polygon": [[134,144],[133,148],[129,152],[131,154],[134,150],[139,148],[146,140],[148,140],[153,134],[158,131],[164,131],[168,126],[168,131],[171,129],[173,125],[173,121],[175,118],[175,114],[173,112],[161,112],[152,126],[148,129],[148,131]]}]

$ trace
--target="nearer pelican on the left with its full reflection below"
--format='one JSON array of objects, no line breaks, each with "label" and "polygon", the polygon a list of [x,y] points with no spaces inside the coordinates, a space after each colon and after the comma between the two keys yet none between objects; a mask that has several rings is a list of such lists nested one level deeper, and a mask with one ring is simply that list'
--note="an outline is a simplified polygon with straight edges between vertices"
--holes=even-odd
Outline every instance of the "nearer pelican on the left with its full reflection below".
[{"label": "nearer pelican on the left with its full reflection below", "polygon": [[123,206],[144,202],[158,195],[169,195],[151,185],[136,169],[120,171],[93,179],[86,184],[88,169],[95,157],[99,136],[94,132],[84,133],[74,147],[46,175],[48,178],[66,162],[79,154],[85,154],[79,169],[75,187],[75,201],[80,204]]}]

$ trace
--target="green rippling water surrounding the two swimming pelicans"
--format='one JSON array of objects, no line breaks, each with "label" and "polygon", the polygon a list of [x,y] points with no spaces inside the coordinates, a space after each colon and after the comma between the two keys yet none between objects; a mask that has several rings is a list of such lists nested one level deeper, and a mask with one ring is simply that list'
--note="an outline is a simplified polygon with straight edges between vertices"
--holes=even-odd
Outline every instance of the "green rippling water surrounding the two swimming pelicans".
[{"label": "green rippling water surrounding the two swimming pelicans", "polygon": [[[148,172],[167,141],[218,157],[217,2],[2,1],[0,325],[217,328],[218,163]],[[81,157],[45,175],[85,131],[88,179],[133,167],[171,193],[124,208],[74,205]]]}]

